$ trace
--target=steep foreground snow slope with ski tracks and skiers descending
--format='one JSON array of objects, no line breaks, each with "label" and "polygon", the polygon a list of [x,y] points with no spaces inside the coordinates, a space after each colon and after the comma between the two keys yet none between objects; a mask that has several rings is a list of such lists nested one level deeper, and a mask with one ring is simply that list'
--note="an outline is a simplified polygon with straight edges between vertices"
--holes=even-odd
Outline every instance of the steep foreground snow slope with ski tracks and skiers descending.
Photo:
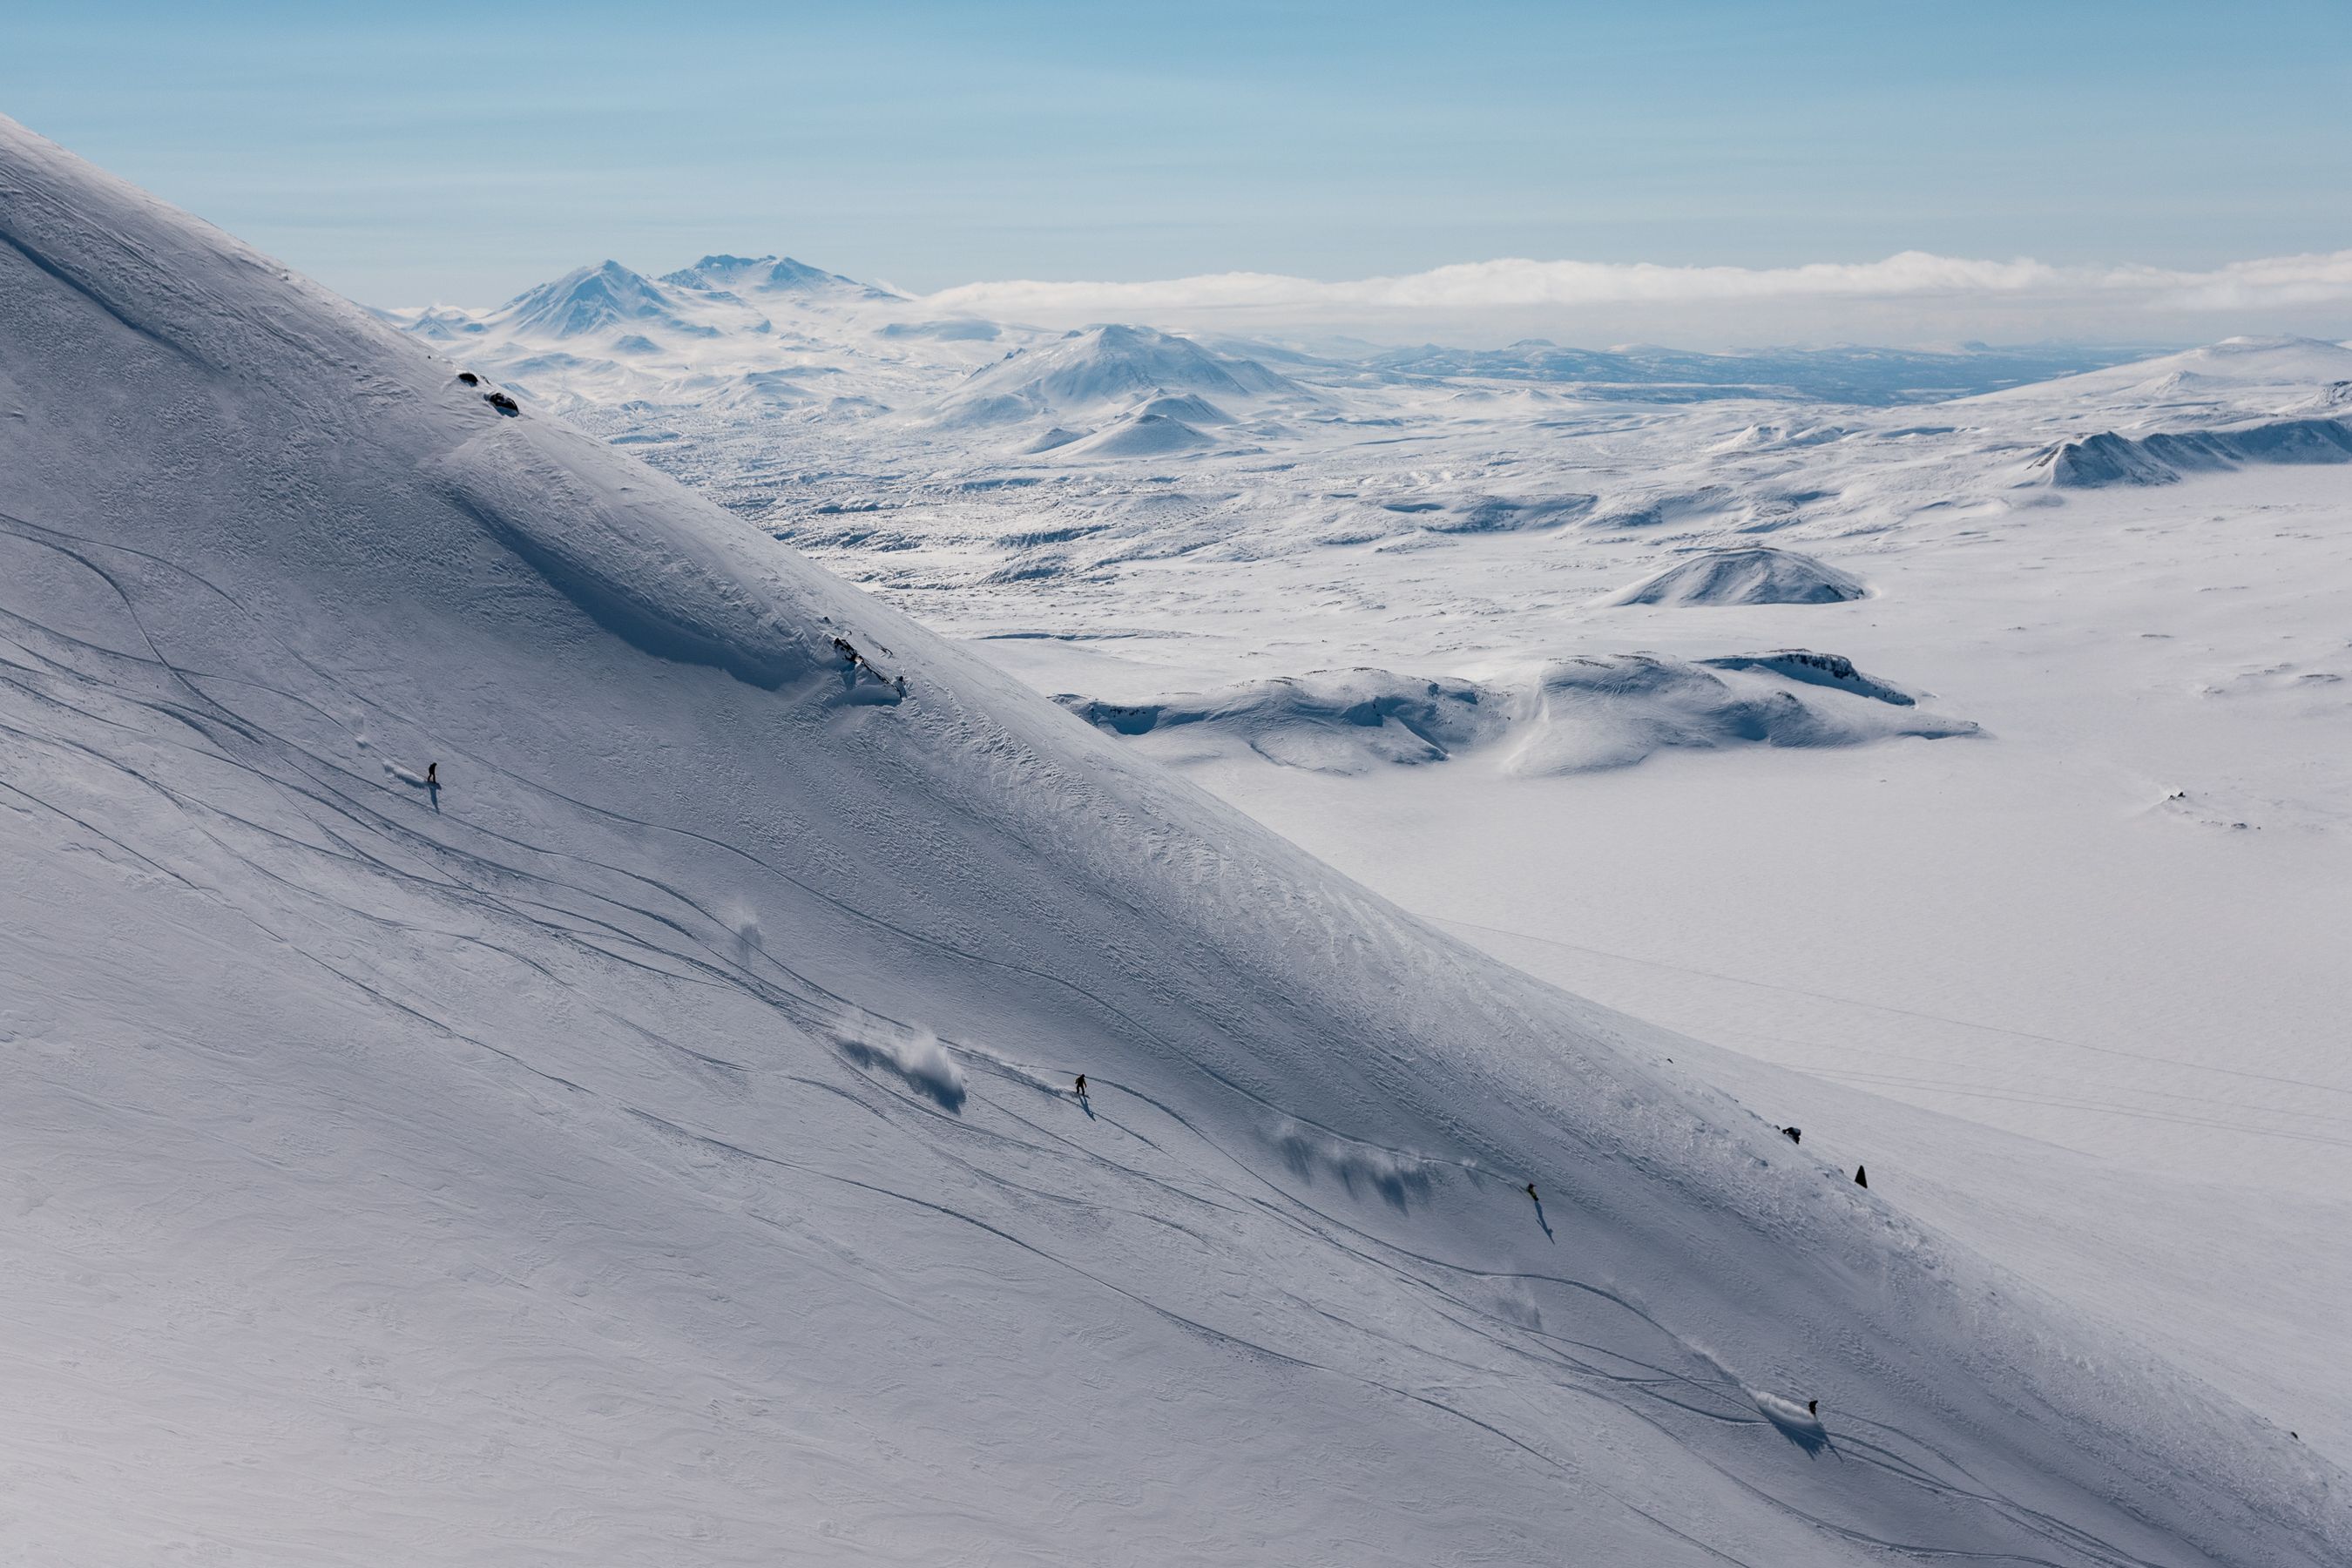
[{"label": "steep foreground snow slope with ski tracks and skiers descending", "polygon": [[0,1554],[2352,1552],[1670,1037],[5,122],[0,237]]}]

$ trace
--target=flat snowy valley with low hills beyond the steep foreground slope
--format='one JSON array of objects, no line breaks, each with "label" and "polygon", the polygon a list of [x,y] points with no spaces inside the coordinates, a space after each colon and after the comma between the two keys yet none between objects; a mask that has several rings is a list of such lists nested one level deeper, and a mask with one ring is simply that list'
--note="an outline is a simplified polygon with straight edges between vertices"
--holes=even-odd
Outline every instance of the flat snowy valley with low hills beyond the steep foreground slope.
[{"label": "flat snowy valley with low hills beyond the steep foreground slope", "polygon": [[724,329],[628,395],[616,322],[461,350],[2352,1443],[2352,348],[1315,353],[856,289],[760,296],[823,404],[748,407]]}]

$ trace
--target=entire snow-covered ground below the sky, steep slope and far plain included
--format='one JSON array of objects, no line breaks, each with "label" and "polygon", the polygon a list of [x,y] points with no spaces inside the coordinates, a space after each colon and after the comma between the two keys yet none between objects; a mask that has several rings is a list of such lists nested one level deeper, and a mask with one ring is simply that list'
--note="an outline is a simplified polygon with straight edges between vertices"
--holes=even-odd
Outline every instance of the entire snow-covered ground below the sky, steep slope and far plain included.
[{"label": "entire snow-covered ground below the sky, steep slope and far plain included", "polygon": [[2347,1563],[2347,388],[362,310],[0,120],[0,1559]]}]

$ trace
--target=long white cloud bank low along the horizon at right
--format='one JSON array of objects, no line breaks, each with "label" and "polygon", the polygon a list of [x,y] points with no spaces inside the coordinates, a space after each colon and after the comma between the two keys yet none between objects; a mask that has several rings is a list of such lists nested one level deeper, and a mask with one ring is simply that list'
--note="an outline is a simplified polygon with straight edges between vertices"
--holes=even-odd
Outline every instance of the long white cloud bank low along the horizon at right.
[{"label": "long white cloud bank low along the horizon at right", "polygon": [[1402,277],[1317,282],[1277,273],[1214,273],[1160,282],[976,282],[927,299],[941,313],[997,320],[1195,320],[1355,324],[1397,329],[1465,320],[1717,317],[1755,324],[1912,320],[2067,331],[2133,327],[2140,336],[2194,329],[2190,317],[2300,313],[2305,331],[2343,324],[2352,308],[2352,249],[2232,261],[2211,270],[2051,266],[1903,252],[1884,261],[1790,268],[1611,261],[1470,261]]}]

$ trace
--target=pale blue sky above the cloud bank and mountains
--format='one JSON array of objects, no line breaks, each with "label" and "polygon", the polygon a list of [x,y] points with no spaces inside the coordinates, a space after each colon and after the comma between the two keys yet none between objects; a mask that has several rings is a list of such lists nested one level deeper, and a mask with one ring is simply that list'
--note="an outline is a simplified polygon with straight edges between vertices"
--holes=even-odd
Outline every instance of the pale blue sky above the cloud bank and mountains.
[{"label": "pale blue sky above the cloud bank and mountains", "polygon": [[16,7],[0,108],[376,303],[2352,247],[2352,5]]}]

